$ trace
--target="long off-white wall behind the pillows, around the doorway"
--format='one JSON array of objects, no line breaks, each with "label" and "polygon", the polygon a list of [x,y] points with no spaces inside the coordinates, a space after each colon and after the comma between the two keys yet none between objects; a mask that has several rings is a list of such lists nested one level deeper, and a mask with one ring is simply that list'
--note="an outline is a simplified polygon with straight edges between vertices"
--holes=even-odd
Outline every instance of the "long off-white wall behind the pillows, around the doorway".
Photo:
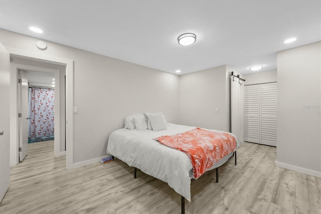
[{"label": "long off-white wall behind the pillows, around the doorway", "polygon": [[162,111],[178,123],[179,76],[110,57],[0,30],[0,42],[19,49],[74,61],[73,163],[106,155],[109,134],[134,113]]}]

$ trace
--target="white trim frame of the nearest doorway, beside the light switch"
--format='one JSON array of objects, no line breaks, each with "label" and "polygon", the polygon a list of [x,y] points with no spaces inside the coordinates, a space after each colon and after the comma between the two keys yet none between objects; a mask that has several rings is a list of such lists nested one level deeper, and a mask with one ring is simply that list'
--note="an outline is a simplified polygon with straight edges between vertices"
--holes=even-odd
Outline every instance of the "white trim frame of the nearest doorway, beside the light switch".
[{"label": "white trim frame of the nearest doorway, beside the light switch", "polygon": [[[74,65],[73,60],[60,58],[56,56],[46,55],[39,52],[30,52],[25,50],[20,50],[16,48],[7,48],[10,54],[17,55],[21,57],[33,58],[35,60],[45,60],[48,63],[59,64],[66,66],[66,168],[71,169],[73,167],[73,71]],[[12,63],[11,63],[12,64]],[[11,69],[12,70],[12,69]],[[11,72],[10,78],[10,118],[11,118],[11,156],[16,156],[16,151],[18,151],[17,139],[18,139],[18,103],[17,103],[17,88],[18,88],[18,73]],[[14,154],[13,154],[14,153]],[[16,165],[17,158],[11,158],[11,165]],[[19,161],[19,160],[18,160]],[[16,164],[15,164],[16,163]]]}]

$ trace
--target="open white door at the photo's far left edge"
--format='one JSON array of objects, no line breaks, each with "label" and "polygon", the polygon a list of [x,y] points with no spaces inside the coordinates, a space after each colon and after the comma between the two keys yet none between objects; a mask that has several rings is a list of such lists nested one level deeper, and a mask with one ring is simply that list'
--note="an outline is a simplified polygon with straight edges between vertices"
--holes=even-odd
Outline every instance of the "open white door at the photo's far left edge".
[{"label": "open white door at the photo's far left edge", "polygon": [[10,179],[10,54],[0,43],[0,202]]}]

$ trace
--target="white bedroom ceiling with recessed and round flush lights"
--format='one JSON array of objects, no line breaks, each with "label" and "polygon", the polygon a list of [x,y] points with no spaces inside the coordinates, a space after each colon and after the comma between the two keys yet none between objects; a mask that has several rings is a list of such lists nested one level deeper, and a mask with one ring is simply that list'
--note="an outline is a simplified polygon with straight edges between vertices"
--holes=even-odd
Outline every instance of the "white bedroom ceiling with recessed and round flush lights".
[{"label": "white bedroom ceiling with recessed and round flush lights", "polygon": [[[321,40],[321,1],[0,0],[0,28],[171,73],[227,64],[249,74],[256,64],[276,69],[278,51]],[[183,33],[197,41],[179,45]]]}]

